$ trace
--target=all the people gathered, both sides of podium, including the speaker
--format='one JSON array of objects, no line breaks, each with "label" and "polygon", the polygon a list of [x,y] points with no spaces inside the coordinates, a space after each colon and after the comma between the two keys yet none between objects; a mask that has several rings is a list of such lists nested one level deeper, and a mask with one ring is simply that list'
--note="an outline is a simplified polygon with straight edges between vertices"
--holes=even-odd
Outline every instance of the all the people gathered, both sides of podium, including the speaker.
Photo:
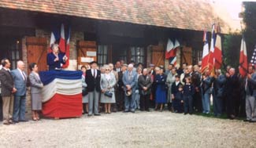
[{"label": "all the people gathered, both sides of podium, including the speaker", "polygon": [[[53,60],[48,62],[50,70],[65,63],[59,60],[58,52],[53,50],[50,54],[57,55],[49,56]],[[43,83],[37,64],[29,64],[29,76],[24,72],[25,65],[21,60],[15,70],[9,70],[11,63],[8,59],[3,59],[1,65],[0,119],[3,119],[3,124],[28,121],[25,118],[28,86],[32,99],[32,120],[39,121]],[[244,121],[256,122],[256,73],[253,65],[248,68],[246,78],[229,66],[224,73],[219,69],[214,73],[207,69],[201,73],[201,62],[194,66],[183,63],[182,67],[169,64],[165,70],[163,66],[150,64],[144,67],[143,63],[131,61],[127,64],[124,60],[98,67],[93,61],[82,66],[81,71],[82,111],[88,116],[117,111],[135,113],[136,110],[150,111],[154,108],[177,114],[213,113],[216,117],[225,113],[230,119],[240,116],[246,117]]]}]

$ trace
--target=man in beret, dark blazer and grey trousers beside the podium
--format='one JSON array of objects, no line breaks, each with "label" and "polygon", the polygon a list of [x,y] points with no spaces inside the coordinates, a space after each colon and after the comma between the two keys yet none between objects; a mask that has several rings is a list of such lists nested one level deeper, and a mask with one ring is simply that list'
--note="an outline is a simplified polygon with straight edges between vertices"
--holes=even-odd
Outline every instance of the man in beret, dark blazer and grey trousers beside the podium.
[{"label": "man in beret, dark blazer and grey trousers beside the podium", "polygon": [[[98,113],[98,99],[99,92],[101,91],[100,80],[101,71],[97,70],[97,63],[95,61],[91,62],[91,70],[86,70],[85,82],[87,84],[88,99],[89,99],[89,113],[88,116],[95,114],[99,116]],[[94,111],[93,111],[94,109]]]}]

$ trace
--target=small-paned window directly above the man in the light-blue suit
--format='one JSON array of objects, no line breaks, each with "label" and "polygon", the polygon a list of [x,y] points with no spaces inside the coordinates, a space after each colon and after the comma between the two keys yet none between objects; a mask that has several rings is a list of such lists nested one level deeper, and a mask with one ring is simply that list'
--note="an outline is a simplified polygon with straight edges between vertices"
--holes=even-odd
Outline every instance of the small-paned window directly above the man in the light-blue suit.
[{"label": "small-paned window directly above the man in the light-blue suit", "polygon": [[145,62],[145,50],[142,47],[131,47],[131,58],[135,63]]}]

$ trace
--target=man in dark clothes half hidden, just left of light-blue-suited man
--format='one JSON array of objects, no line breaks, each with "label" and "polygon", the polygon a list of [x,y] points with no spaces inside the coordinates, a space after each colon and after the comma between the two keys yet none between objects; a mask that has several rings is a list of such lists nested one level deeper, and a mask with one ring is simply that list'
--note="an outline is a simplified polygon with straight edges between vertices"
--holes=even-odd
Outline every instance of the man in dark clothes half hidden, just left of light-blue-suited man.
[{"label": "man in dark clothes half hidden, just left of light-blue-suited man", "polygon": [[124,110],[124,82],[123,75],[127,70],[128,65],[123,64],[121,71],[118,72],[118,81],[117,81],[117,108],[118,111]]}]

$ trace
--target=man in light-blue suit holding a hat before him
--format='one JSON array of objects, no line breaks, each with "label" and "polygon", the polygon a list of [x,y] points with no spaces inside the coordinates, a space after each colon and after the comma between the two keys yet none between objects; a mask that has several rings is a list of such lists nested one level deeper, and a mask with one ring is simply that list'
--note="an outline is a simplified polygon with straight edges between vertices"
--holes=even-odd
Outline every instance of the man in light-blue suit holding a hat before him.
[{"label": "man in light-blue suit holding a hat before him", "polygon": [[[124,72],[123,82],[124,82],[124,112],[129,110],[135,113],[135,89],[136,83],[138,81],[137,73],[133,70],[133,65],[130,63],[128,65],[128,70]],[[130,94],[132,92],[132,94]]]}]

